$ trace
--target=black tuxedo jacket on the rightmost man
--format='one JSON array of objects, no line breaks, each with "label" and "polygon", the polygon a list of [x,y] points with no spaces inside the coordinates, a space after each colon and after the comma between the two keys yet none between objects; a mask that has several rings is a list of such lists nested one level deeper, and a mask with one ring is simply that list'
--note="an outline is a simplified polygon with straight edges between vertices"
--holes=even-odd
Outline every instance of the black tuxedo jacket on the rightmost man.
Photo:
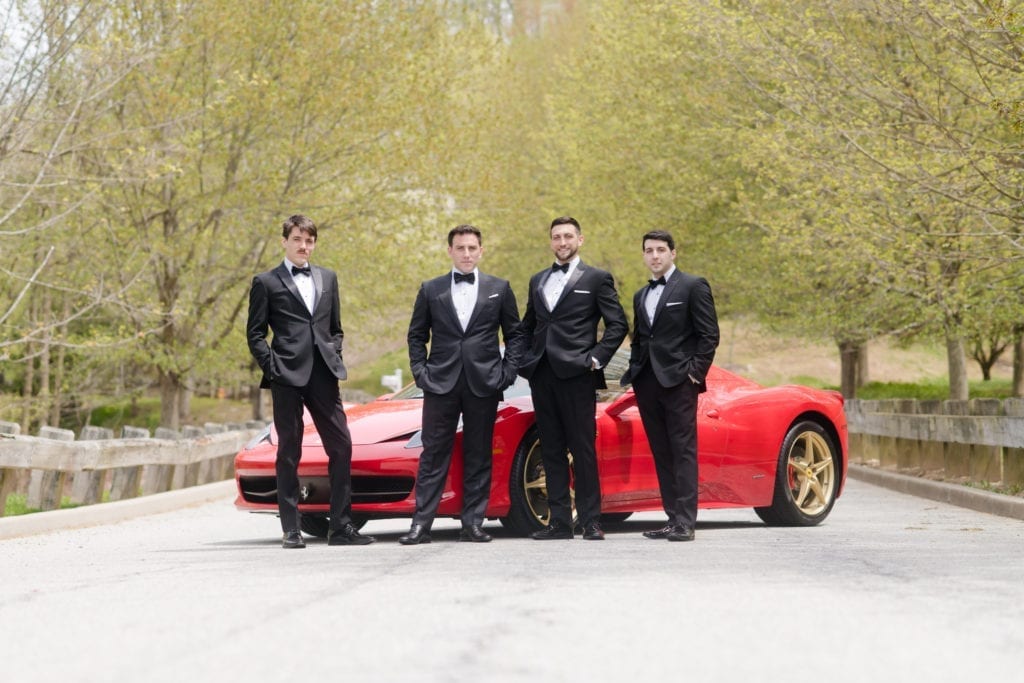
[{"label": "black tuxedo jacket on the rightmost man", "polygon": [[719,340],[718,315],[708,281],[674,270],[654,309],[653,325],[644,308],[646,292],[647,287],[642,287],[633,296],[633,343],[623,385],[650,362],[664,387],[695,380],[700,391],[707,390],[708,370]]}]

